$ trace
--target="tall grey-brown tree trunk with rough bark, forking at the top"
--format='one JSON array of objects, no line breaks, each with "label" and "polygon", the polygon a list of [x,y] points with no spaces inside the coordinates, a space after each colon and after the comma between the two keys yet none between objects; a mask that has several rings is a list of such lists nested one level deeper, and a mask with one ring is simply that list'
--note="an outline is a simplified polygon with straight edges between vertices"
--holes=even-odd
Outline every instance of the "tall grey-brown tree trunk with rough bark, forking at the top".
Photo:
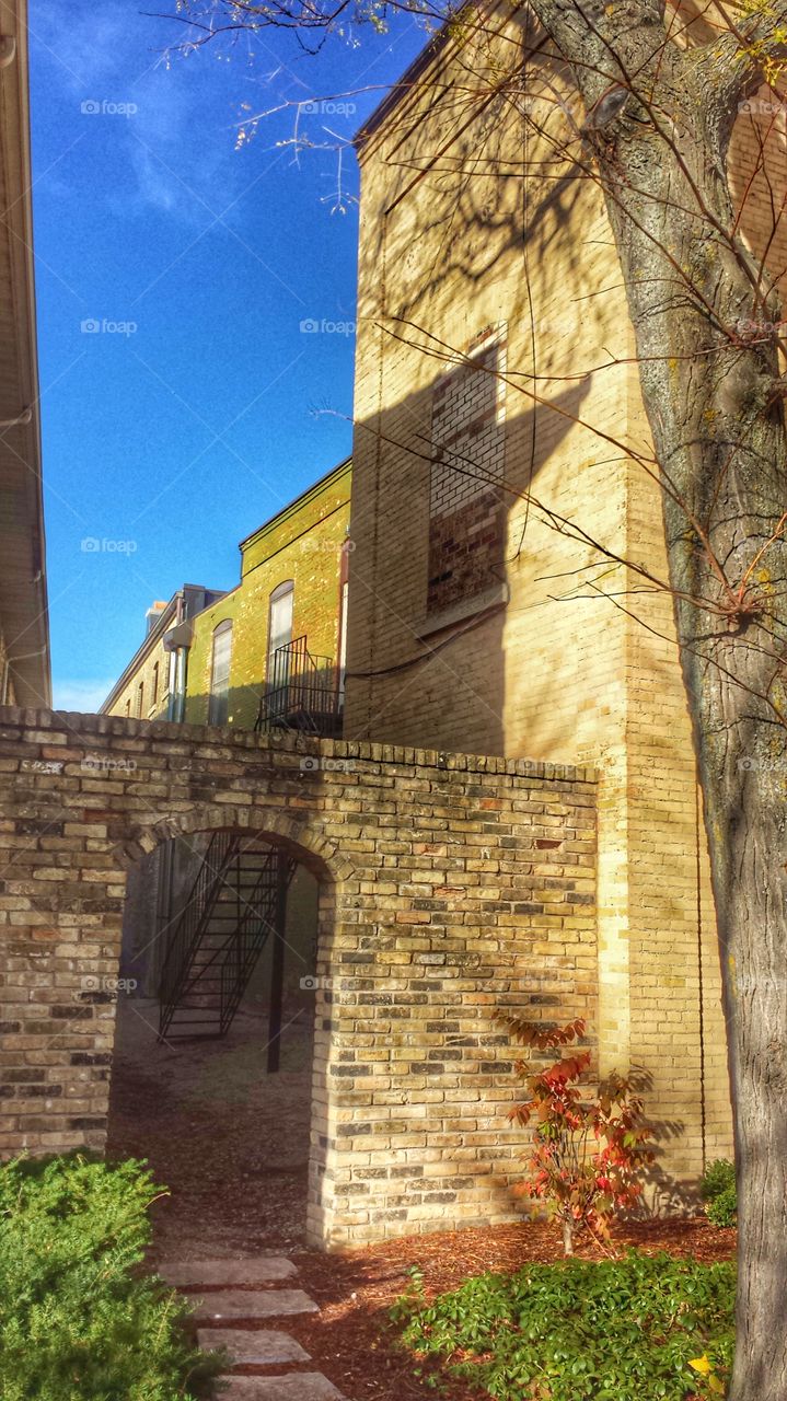
[{"label": "tall grey-brown tree trunk with rough bark, forking at the top", "polygon": [[534,0],[534,10],[571,64],[588,112],[599,111],[611,85],[627,90],[619,113],[601,126],[591,120],[585,133],[658,460],[704,797],[738,1171],[730,1398],[784,1401],[787,451],[769,329],[779,308],[735,238],[725,174],[737,104],[756,85],[756,67],[735,62],[724,41],[681,52],[648,3],[615,6],[615,32],[601,39],[604,21],[571,0]]}]

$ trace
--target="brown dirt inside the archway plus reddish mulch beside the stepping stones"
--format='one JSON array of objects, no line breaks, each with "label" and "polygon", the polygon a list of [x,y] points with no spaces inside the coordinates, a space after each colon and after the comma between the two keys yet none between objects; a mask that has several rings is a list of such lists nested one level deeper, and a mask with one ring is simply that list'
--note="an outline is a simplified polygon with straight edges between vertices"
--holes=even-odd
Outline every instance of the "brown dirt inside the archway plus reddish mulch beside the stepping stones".
[{"label": "brown dirt inside the archway plus reddish mulch beside the stepping stones", "polygon": [[[151,1264],[164,1258],[286,1252],[298,1285],[319,1314],[287,1320],[349,1401],[434,1397],[426,1377],[396,1346],[388,1309],[419,1265],[427,1295],[487,1269],[560,1258],[552,1226],[527,1222],[483,1230],[409,1236],[326,1255],[305,1245],[311,1096],[311,1026],[301,1016],[286,1030],[281,1070],[267,1076],[265,1014],[249,1007],[224,1041],[155,1045],[155,1005],[122,1007],[112,1079],[109,1152],[146,1157],[169,1195],[154,1206]],[[735,1233],[704,1217],[633,1223],[616,1245],[669,1250],[700,1259],[734,1254]],[[598,1258],[595,1247],[577,1254]],[[245,1369],[252,1373],[255,1369]],[[478,1393],[448,1384],[443,1401]]]}]

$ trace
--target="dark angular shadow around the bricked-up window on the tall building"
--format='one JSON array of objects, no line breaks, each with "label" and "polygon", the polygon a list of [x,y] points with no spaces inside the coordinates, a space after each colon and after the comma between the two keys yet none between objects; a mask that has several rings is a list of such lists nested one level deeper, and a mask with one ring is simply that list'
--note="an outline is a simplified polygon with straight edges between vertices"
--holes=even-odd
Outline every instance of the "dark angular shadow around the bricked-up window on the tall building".
[{"label": "dark angular shadow around the bricked-up window on the tall building", "polygon": [[[507,417],[492,469],[473,455],[473,423],[459,448],[433,451],[433,385],[357,425],[344,738],[525,752],[507,733],[511,570],[528,493],[587,394],[581,381]],[[457,481],[438,510],[436,471]]]}]

